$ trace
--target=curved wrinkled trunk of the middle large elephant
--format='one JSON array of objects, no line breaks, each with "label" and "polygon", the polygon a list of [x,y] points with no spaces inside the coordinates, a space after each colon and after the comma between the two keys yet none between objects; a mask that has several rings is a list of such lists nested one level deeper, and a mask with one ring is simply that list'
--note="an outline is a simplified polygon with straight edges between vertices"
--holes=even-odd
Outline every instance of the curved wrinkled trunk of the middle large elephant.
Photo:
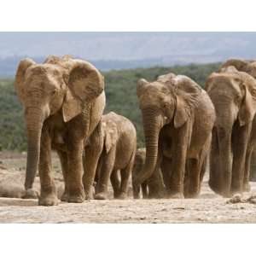
[{"label": "curved wrinkled trunk of the middle large elephant", "polygon": [[137,183],[143,183],[155,169],[158,155],[158,140],[161,128],[161,116],[156,109],[143,110],[143,129],[146,143],[146,160],[143,171],[137,177]]}]

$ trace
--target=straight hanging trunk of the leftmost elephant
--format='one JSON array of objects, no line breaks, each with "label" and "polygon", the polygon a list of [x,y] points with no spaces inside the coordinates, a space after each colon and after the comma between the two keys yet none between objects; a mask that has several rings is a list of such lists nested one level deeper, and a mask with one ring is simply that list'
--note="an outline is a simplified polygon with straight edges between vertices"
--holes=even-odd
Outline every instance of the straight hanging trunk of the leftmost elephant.
[{"label": "straight hanging trunk of the leftmost elephant", "polygon": [[26,109],[27,158],[25,189],[32,189],[38,170],[44,114],[37,108]]}]

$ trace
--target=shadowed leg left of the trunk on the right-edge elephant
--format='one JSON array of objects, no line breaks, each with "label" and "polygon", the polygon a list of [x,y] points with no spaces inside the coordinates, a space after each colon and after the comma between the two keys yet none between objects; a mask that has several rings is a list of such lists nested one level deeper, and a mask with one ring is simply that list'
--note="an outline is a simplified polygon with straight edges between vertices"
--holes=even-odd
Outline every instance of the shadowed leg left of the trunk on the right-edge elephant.
[{"label": "shadowed leg left of the trunk on the right-edge elephant", "polygon": [[210,149],[210,172],[208,184],[217,194],[221,193],[221,173],[219,173],[219,148],[218,133],[216,128],[212,130],[212,147]]}]

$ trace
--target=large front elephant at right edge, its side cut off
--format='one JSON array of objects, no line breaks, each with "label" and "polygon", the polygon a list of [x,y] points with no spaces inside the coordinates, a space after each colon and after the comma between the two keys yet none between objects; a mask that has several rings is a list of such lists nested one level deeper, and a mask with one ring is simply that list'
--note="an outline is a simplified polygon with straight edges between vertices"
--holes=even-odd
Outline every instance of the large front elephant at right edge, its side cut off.
[{"label": "large front elephant at right edge, its side cut off", "polygon": [[217,114],[212,129],[209,186],[224,197],[241,194],[249,189],[250,155],[256,143],[251,132],[256,131],[256,80],[237,71],[236,66],[223,65],[219,73],[209,76],[206,90]]}]

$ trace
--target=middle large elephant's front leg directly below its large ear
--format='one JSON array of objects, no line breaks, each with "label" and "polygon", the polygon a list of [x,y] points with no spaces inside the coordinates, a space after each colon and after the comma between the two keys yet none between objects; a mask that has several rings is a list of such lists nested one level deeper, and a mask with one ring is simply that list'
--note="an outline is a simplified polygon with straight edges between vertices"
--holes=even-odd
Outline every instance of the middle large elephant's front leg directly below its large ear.
[{"label": "middle large elephant's front leg directly below its large ear", "polygon": [[172,177],[170,180],[170,188],[168,198],[183,198],[183,183],[185,174],[185,165],[187,158],[187,150],[189,148],[189,124],[185,123],[175,134],[173,134],[173,144],[175,148],[172,150]]}]

